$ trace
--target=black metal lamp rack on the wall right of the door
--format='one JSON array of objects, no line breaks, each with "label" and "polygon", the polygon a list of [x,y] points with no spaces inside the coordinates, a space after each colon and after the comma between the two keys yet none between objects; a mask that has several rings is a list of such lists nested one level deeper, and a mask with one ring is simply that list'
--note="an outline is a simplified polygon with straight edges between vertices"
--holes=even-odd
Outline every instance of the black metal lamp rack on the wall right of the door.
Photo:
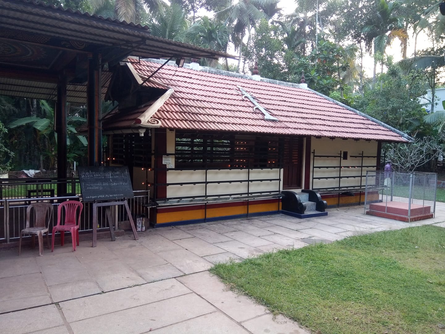
[{"label": "black metal lamp rack on the wall right of the door", "polygon": [[[361,193],[364,191],[363,187],[363,178],[366,177],[363,175],[363,169],[364,168],[370,168],[370,167],[376,167],[376,165],[364,165],[363,159],[365,158],[377,158],[376,155],[364,155],[364,152],[362,151],[359,155],[349,155],[350,158],[354,159],[360,159],[360,165],[350,165],[350,166],[342,166],[342,159],[343,159],[343,152],[340,151],[340,153],[336,155],[316,155],[315,150],[312,151],[312,190],[319,191],[320,193],[324,194],[338,194],[338,204],[340,204],[340,195],[342,193],[351,194],[352,192],[360,192],[360,198],[359,198],[359,204],[361,203]],[[335,166],[316,166],[316,158],[328,158],[328,159],[338,159],[338,165]],[[315,170],[316,169],[323,169],[328,168],[332,169],[333,173],[338,169],[337,175],[332,176],[322,176],[322,177],[314,177]],[[342,171],[344,169],[350,169],[350,168],[360,168],[360,175],[342,175]],[[314,187],[314,180],[322,180],[322,179],[338,179],[338,186],[336,187],[320,187],[315,188]],[[356,185],[348,185],[348,186],[342,186],[341,180],[342,179],[360,179],[360,182],[358,182]]]}]

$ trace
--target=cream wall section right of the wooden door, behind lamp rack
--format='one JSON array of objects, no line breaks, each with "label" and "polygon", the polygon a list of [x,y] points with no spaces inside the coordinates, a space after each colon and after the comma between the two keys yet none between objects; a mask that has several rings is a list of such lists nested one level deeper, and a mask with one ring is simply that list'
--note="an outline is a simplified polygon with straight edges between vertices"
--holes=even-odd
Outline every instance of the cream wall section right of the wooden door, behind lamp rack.
[{"label": "cream wall section right of the wooden door, behind lamp rack", "polygon": [[[340,151],[348,152],[348,160],[340,158],[316,158],[315,166],[342,166],[341,176],[358,176],[357,178],[346,178],[341,179],[340,186],[359,186],[360,185],[360,165],[361,158],[352,158],[351,155],[360,155],[363,151],[364,155],[375,156],[377,154],[377,142],[371,141],[367,142],[365,140],[355,141],[353,139],[342,140],[339,138],[329,139],[320,138],[316,139],[312,137],[311,142],[311,188],[328,188],[328,187],[338,187],[338,179],[320,179],[314,180],[312,187],[312,163],[313,154],[315,150],[316,155],[339,155]],[[343,156],[343,155],[342,155]],[[364,158],[363,165],[375,166],[376,158]],[[366,175],[367,170],[375,170],[375,167],[363,168],[363,175]],[[330,177],[338,176],[340,168],[316,168],[314,171],[314,177]],[[362,185],[365,184],[365,177],[362,178]]]}]

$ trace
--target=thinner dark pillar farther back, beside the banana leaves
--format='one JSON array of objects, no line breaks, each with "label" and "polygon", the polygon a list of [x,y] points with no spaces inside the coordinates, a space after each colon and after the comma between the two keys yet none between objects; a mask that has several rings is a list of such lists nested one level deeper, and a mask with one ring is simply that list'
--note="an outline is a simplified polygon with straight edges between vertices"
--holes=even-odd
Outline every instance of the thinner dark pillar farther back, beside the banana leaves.
[{"label": "thinner dark pillar farther back, beside the banana leaves", "polygon": [[[57,133],[57,179],[66,179],[66,135],[67,135],[67,110],[66,110],[66,77],[62,74],[57,84],[57,102],[55,126]],[[57,196],[65,196],[66,183],[57,184]]]}]

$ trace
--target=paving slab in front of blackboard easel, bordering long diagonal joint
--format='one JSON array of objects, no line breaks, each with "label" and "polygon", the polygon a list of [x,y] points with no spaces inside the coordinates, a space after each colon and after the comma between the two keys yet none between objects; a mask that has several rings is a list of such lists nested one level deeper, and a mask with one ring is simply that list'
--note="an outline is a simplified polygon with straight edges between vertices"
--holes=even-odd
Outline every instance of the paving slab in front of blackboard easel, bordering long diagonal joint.
[{"label": "paving slab in front of blackboard easel, bordering long diagonal joint", "polygon": [[92,277],[99,284],[102,291],[111,291],[146,283],[142,277],[119,259],[88,262],[85,264],[85,267],[90,274],[89,277]]}]

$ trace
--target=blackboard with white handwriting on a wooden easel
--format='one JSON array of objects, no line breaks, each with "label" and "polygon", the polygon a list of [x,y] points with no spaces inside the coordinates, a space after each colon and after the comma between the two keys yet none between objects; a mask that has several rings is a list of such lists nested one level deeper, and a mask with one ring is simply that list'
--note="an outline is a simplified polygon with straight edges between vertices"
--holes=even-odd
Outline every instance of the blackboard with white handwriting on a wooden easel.
[{"label": "blackboard with white handwriting on a wooden easel", "polygon": [[128,167],[79,167],[84,202],[133,198]]}]

